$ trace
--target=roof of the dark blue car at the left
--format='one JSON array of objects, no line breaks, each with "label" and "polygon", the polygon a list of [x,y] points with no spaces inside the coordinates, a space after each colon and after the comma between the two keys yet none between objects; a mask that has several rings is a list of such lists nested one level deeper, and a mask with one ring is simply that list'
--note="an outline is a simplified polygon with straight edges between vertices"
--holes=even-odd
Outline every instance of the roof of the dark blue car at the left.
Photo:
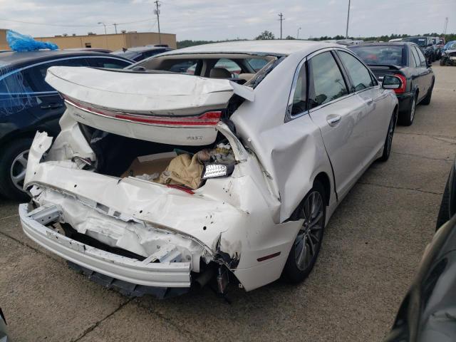
[{"label": "roof of the dark blue car at the left", "polygon": [[[76,56],[103,56],[109,57],[108,53],[93,52],[93,51],[68,51],[68,50],[38,50],[38,51],[10,51],[0,53],[0,66],[8,65],[24,65],[37,61],[46,61],[53,57],[76,57]],[[111,56],[113,58],[121,58],[125,61],[130,61],[127,58],[120,56]],[[130,61],[131,62],[131,61]]]}]

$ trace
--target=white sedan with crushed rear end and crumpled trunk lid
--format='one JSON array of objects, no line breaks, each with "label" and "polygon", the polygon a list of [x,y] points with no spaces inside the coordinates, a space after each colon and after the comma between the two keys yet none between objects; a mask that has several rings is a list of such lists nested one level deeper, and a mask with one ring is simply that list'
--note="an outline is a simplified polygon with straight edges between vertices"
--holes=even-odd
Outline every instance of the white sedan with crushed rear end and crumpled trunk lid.
[{"label": "white sedan with crushed rear end and crumpled trunk lid", "polygon": [[46,81],[67,110],[28,154],[24,232],[105,286],[160,297],[304,280],[338,203],[388,159],[401,82],[308,41],[52,67]]}]

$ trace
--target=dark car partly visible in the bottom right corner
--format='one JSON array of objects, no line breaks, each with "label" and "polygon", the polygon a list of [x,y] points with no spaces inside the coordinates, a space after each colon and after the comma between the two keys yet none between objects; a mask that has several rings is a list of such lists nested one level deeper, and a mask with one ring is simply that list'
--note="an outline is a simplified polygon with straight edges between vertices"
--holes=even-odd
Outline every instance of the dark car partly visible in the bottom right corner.
[{"label": "dark car partly visible in the bottom right corner", "polygon": [[426,247],[385,342],[456,341],[455,162],[442,196],[437,232]]}]

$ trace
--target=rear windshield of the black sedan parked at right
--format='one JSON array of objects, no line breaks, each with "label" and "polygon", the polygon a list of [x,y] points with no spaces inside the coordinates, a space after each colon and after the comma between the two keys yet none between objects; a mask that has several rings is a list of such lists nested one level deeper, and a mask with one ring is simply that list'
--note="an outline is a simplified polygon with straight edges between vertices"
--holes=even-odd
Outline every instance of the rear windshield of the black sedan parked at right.
[{"label": "rear windshield of the black sedan parked at right", "polygon": [[405,66],[405,47],[393,45],[353,46],[356,53],[366,64]]}]

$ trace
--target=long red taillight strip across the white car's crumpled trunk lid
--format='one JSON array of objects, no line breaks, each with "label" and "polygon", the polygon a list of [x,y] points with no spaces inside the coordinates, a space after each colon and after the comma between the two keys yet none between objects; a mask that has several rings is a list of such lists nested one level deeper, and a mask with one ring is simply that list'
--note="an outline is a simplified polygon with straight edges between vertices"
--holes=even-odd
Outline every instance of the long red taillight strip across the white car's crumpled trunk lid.
[{"label": "long red taillight strip across the white car's crumpled trunk lid", "polygon": [[106,110],[102,108],[93,108],[84,103],[78,103],[72,98],[63,95],[65,102],[73,105],[79,109],[88,111],[93,114],[108,116],[109,118],[116,118],[120,120],[133,121],[135,123],[146,123],[149,125],[167,125],[167,126],[212,126],[219,123],[222,118],[222,111],[214,110],[203,113],[197,116],[152,116],[141,114],[120,113],[113,110]]}]

